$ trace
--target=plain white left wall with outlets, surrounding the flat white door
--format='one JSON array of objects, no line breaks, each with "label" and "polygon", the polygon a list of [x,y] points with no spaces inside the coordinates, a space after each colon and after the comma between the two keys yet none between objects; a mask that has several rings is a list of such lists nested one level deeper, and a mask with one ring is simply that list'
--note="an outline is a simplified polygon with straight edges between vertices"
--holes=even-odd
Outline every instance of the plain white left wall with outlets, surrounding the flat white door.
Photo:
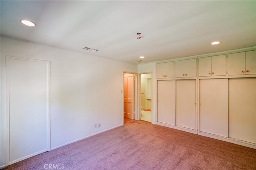
[{"label": "plain white left wall with outlets, surrounding the flat white door", "polygon": [[136,73],[137,65],[1,37],[1,166],[8,151],[7,55],[50,61],[51,149],[123,125],[123,72]]}]

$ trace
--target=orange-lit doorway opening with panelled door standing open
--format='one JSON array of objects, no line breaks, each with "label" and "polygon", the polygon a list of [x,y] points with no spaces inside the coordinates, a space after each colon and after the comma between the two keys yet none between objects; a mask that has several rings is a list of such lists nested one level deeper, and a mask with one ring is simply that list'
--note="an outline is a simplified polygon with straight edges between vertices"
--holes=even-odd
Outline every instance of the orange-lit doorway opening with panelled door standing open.
[{"label": "orange-lit doorway opening with panelled door standing open", "polygon": [[124,117],[134,119],[134,74],[124,73]]}]

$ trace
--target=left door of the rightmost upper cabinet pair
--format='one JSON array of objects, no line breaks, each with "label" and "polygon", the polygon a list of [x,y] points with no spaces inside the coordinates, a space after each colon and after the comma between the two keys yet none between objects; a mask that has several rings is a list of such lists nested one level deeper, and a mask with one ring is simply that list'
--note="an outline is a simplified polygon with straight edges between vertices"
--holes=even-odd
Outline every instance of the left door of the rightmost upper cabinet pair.
[{"label": "left door of the rightmost upper cabinet pair", "polygon": [[228,54],[228,75],[245,74],[245,52]]}]

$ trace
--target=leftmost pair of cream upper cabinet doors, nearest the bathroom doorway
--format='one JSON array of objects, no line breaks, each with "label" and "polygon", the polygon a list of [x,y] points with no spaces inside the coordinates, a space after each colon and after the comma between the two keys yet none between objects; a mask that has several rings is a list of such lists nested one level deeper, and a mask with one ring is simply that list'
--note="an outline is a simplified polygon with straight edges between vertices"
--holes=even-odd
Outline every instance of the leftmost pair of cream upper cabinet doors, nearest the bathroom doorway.
[{"label": "leftmost pair of cream upper cabinet doors, nearest the bathroom doorway", "polygon": [[157,78],[173,78],[174,61],[157,64]]}]

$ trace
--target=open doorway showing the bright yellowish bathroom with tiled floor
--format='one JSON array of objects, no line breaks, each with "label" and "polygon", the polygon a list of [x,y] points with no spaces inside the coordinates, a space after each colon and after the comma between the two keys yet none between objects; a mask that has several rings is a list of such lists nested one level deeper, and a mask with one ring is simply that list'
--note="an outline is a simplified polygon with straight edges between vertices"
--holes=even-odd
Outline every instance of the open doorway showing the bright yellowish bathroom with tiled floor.
[{"label": "open doorway showing the bright yellowish bathroom with tiled floor", "polygon": [[152,122],[152,74],[141,74],[140,87],[140,119]]}]

